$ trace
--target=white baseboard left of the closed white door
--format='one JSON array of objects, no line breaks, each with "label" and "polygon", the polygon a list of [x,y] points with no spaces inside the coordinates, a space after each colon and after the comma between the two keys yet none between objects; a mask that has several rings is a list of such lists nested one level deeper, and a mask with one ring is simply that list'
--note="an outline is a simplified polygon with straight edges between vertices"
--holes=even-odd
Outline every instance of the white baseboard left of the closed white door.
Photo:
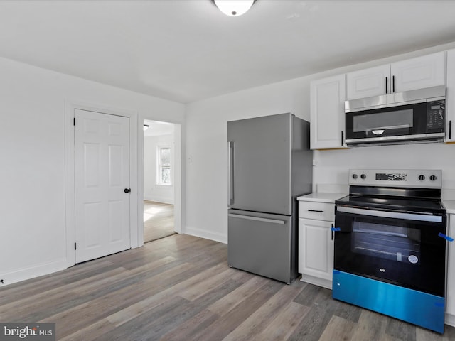
[{"label": "white baseboard left of the closed white door", "polygon": [[65,270],[67,268],[66,259],[61,259],[60,261],[38,264],[37,266],[6,272],[0,274],[0,279],[4,281],[3,284],[0,283],[0,288],[20,281],[26,281],[27,279],[52,274],[53,272]]}]

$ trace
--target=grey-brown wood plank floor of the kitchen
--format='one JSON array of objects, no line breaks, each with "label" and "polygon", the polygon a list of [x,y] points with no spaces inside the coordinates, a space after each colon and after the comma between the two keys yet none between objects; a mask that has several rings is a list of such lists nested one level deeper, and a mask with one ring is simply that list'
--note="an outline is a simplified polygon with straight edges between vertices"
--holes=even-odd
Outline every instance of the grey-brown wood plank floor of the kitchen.
[{"label": "grey-brown wood plank floor of the kitchen", "polygon": [[230,269],[225,244],[174,234],[0,289],[1,322],[56,323],[57,340],[455,340],[331,291]]}]

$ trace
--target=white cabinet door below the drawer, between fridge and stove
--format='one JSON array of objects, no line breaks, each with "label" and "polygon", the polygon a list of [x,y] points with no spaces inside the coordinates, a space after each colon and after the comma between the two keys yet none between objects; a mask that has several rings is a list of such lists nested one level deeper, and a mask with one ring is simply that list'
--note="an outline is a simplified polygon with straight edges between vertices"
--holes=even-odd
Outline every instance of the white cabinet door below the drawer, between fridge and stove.
[{"label": "white cabinet door below the drawer, between fridge and stove", "polygon": [[299,273],[332,281],[333,222],[299,219]]}]

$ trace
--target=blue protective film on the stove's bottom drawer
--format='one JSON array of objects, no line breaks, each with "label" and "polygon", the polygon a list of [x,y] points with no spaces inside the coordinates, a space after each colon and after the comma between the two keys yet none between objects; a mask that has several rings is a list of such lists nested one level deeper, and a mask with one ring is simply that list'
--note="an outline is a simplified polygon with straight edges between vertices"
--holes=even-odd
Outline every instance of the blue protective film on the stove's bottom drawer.
[{"label": "blue protective film on the stove's bottom drawer", "polygon": [[435,332],[444,332],[445,298],[441,296],[333,270],[332,297]]}]

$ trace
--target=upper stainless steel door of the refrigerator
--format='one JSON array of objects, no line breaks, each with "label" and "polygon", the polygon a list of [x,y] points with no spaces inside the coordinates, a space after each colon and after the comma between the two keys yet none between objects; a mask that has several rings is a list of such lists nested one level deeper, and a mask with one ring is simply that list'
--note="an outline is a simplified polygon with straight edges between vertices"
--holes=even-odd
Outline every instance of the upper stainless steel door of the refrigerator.
[{"label": "upper stainless steel door of the refrigerator", "polygon": [[291,214],[291,114],[228,122],[232,208]]}]

